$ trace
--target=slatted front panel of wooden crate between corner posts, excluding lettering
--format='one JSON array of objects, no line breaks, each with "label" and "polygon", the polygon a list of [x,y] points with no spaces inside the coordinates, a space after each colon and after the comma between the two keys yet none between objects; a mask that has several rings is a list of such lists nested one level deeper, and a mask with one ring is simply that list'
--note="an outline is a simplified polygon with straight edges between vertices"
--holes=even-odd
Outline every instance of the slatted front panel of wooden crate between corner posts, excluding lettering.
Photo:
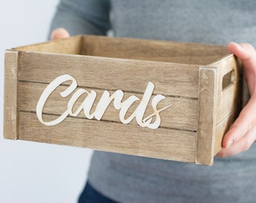
[{"label": "slatted front panel of wooden crate between corner posts, excluding lettering", "polygon": [[[20,56],[20,139],[195,162],[197,128],[193,125],[192,129],[187,129],[187,126],[180,126],[181,129],[178,129],[177,126],[168,125],[172,123],[169,114],[173,114],[174,106],[177,108],[175,111],[184,108],[182,117],[178,117],[178,112],[173,114],[177,120],[181,119],[184,125],[191,125],[185,114],[197,112],[196,65],[27,52],[21,52]],[[99,121],[82,116],[67,117],[55,126],[44,126],[35,114],[35,105],[46,86],[62,74],[72,75],[78,82],[78,89],[95,90],[99,95],[103,91],[112,93],[121,89],[126,97],[134,95],[143,98],[146,86],[151,82],[154,83],[151,98],[160,94],[166,96],[157,105],[157,109],[171,105],[169,102],[178,103],[160,112],[161,122],[167,124],[158,129],[142,128],[136,122],[128,125],[120,123],[117,117],[113,119],[118,111],[114,112],[112,104],[105,111],[106,117]],[[70,83],[65,83],[61,88],[66,89],[69,85]],[[50,100],[55,96],[50,95]],[[53,108],[46,108],[51,110],[43,115],[45,120],[58,117],[59,113],[55,111],[59,111],[57,106],[63,105],[62,102],[65,103],[63,108],[67,107],[64,100],[59,101],[59,96],[53,100],[50,103]],[[146,114],[151,114],[150,101],[148,110]]]}]

